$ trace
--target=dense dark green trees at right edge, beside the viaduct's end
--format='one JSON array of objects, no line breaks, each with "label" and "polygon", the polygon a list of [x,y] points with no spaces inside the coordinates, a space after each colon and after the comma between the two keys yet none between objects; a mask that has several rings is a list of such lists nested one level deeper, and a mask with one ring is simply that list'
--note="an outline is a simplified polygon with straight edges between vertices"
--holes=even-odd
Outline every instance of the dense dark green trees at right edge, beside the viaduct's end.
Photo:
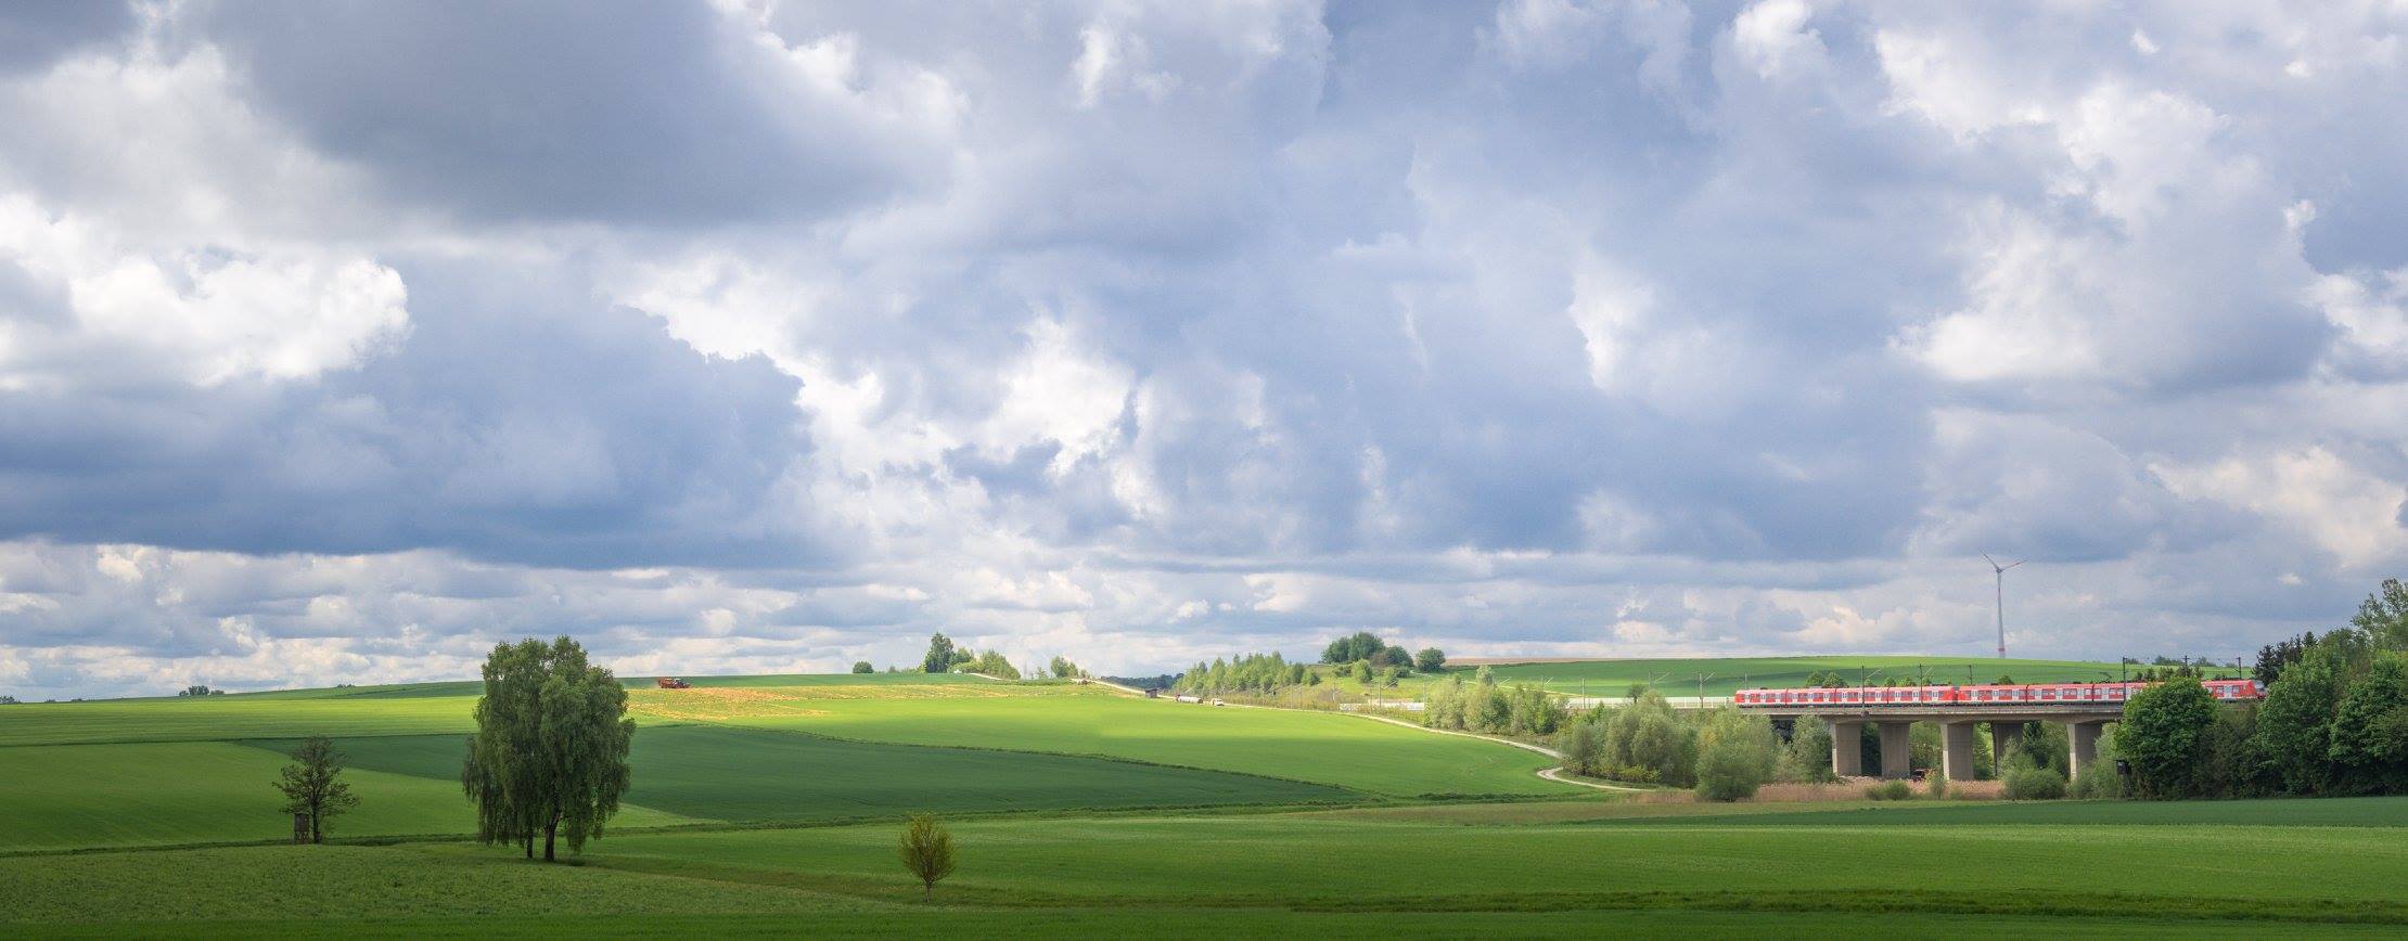
[{"label": "dense dark green trees at right edge, beside the viaduct's end", "polygon": [[2408,587],[2348,628],[2259,650],[2266,700],[2218,708],[2194,679],[2133,696],[2114,736],[2138,797],[2408,794]]}]

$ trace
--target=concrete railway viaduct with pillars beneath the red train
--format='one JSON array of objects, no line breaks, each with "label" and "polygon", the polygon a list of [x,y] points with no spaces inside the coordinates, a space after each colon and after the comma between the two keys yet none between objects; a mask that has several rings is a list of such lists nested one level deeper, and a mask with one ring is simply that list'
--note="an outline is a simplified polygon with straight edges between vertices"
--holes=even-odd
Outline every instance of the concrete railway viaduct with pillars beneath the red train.
[{"label": "concrete railway viaduct with pillars beneath the red train", "polygon": [[2124,703],[1910,703],[1910,705],[1739,705],[1743,712],[1775,720],[1830,724],[1830,770],[1840,777],[1864,775],[1864,748],[1857,741],[1864,727],[1881,729],[1881,777],[1907,777],[1907,734],[1914,722],[1941,727],[1941,770],[1948,780],[1975,780],[1972,736],[1977,722],[1989,722],[1991,756],[2003,756],[2023,736],[2025,722],[2064,722],[2066,744],[2073,746],[2073,773],[2097,761],[2100,729],[2124,720]]}]

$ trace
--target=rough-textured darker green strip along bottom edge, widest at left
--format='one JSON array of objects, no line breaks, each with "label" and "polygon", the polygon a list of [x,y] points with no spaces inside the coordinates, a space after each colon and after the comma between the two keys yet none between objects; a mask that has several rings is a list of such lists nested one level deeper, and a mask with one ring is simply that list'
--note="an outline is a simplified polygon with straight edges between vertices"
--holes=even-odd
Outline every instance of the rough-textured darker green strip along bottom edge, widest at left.
[{"label": "rough-textured darker green strip along bottom edge, widest at left", "polygon": [[[790,833],[792,838],[809,830]],[[797,857],[799,859],[799,857]],[[992,857],[990,857],[992,859]],[[1209,881],[1250,857],[1202,857],[1192,881]],[[79,857],[0,859],[0,931],[39,936],[2345,936],[2396,931],[2394,902],[2353,902],[2307,919],[2206,917],[2136,910],[2150,900],[1905,893],[1953,910],[1900,910],[1876,893],[1772,893],[1751,905],[1714,907],[1698,895],[1589,890],[1577,898],[1507,895],[1503,905],[1397,907],[1397,895],[1365,902],[1221,907],[1093,898],[1019,898],[995,905],[939,893],[780,883],[780,874],[681,857],[612,857],[588,866],[544,866],[465,847],[241,847]],[[1536,866],[1517,866],[1536,869]],[[958,876],[956,876],[958,878]],[[1476,881],[1476,876],[1474,876]],[[1994,886],[1994,883],[1991,883]],[[1411,895],[1406,895],[1411,902]],[[1724,900],[1727,902],[1727,900]],[[1832,905],[1835,902],[1835,905]],[[2121,907],[2114,907],[2119,905]],[[1828,907],[1830,905],[1830,907]],[[2109,907],[2083,915],[2083,907]],[[2223,905],[2218,902],[2218,910]]]}]

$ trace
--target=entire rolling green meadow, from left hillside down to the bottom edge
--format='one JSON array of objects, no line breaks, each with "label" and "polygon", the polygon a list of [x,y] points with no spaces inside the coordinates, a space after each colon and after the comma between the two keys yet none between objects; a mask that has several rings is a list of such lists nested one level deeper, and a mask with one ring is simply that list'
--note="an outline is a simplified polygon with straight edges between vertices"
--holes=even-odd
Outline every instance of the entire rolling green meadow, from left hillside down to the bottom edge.
[{"label": "entire rolling green meadow, from left hillside down to the bottom edge", "polygon": [[[0,708],[0,934],[2408,929],[2408,799],[1683,804],[1363,717],[915,674],[631,683],[628,804],[544,866],[467,840],[462,688]],[[277,842],[301,734],[352,761],[337,845]],[[927,900],[908,811],[958,845]]]}]

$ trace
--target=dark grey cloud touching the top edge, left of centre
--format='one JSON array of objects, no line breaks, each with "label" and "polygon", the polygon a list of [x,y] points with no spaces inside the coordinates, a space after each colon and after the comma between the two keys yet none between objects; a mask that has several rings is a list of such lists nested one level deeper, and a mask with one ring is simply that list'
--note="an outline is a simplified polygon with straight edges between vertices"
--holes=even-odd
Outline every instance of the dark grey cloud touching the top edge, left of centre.
[{"label": "dark grey cloud touching the top edge, left of centre", "polygon": [[494,224],[785,224],[927,161],[701,2],[226,2],[205,36],[325,154]]}]

